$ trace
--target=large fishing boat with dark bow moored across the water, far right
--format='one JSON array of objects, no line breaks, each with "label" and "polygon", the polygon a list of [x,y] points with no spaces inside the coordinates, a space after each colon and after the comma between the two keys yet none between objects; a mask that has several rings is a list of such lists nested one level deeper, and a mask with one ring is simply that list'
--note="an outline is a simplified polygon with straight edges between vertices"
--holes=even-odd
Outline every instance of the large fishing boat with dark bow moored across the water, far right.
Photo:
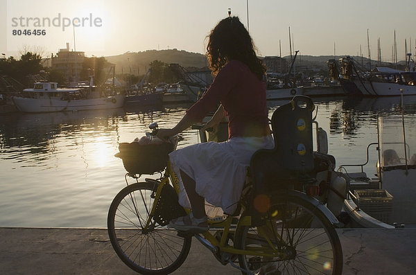
[{"label": "large fishing boat with dark bow moored across the water, far right", "polygon": [[346,94],[355,96],[416,95],[416,72],[376,67],[369,73],[358,69],[352,57],[340,59],[340,84]]}]

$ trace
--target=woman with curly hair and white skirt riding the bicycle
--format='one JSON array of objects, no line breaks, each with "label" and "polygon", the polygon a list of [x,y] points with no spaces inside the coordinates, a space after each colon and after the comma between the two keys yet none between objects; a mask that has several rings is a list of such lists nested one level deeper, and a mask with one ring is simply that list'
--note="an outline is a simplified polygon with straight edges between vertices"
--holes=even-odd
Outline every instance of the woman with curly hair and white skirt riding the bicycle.
[{"label": "woman with curly hair and white skirt riding the bicycle", "polygon": [[214,82],[175,127],[157,133],[162,139],[174,136],[202,121],[218,105],[202,130],[215,128],[228,117],[228,141],[199,143],[169,154],[180,180],[179,202],[192,209],[169,227],[192,233],[208,230],[205,201],[227,214],[236,211],[252,154],[274,145],[268,126],[266,68],[248,30],[239,17],[227,17],[208,38],[207,57]]}]

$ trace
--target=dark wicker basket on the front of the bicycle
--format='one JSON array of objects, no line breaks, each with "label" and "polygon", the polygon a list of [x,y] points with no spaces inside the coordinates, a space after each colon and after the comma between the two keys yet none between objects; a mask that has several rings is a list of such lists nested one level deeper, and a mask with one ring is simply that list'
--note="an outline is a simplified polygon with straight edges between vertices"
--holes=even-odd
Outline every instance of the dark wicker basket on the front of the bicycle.
[{"label": "dark wicker basket on the front of the bicycle", "polygon": [[115,157],[123,160],[127,172],[132,175],[151,175],[166,168],[168,154],[173,151],[173,144],[120,143],[119,151]]}]

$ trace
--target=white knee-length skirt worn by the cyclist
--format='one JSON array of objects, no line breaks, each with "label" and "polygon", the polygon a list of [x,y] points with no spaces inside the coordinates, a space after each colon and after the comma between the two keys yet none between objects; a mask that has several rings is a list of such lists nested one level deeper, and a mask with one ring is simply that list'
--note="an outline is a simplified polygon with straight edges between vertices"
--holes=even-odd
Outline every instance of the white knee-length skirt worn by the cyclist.
[{"label": "white knee-length skirt worn by the cyclist", "polygon": [[180,170],[196,181],[196,193],[224,213],[236,211],[252,154],[273,148],[272,136],[234,137],[229,141],[190,145],[169,154],[180,182],[179,203],[191,208]]}]

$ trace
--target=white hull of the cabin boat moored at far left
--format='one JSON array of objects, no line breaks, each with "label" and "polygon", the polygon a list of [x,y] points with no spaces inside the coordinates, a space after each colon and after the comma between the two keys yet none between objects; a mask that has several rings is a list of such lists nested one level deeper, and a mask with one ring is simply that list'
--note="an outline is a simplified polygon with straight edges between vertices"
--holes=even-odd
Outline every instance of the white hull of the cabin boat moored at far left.
[{"label": "white hull of the cabin boat moored at far left", "polygon": [[123,107],[125,96],[117,94],[105,98],[62,100],[61,98],[24,98],[14,96],[13,102],[21,112],[65,112]]}]

